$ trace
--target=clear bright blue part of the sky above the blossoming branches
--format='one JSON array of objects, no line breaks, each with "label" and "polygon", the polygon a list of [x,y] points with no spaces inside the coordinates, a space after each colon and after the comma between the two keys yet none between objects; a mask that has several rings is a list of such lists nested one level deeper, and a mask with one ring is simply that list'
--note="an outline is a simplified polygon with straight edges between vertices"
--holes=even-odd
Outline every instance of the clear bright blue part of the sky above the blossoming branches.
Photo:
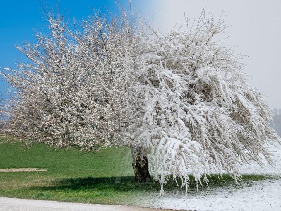
[{"label": "clear bright blue part of the sky above the blossoming branches", "polygon": [[[114,0],[41,0],[45,9],[53,8],[59,10],[69,21],[73,17],[77,21],[87,18],[93,11],[93,8],[100,9],[103,12],[105,7],[114,13],[118,10],[118,5]],[[58,4],[59,2],[59,4]],[[119,0],[118,3],[128,7],[127,0]],[[136,1],[137,3],[137,1]],[[23,41],[29,40],[35,42],[34,30],[40,29],[46,24],[44,20],[44,9],[39,0],[30,1],[1,1],[0,3],[0,70],[4,67],[16,68],[16,60],[23,60],[25,57],[16,49],[16,45],[22,45]],[[0,93],[4,98],[6,95],[7,84],[0,79]]]}]

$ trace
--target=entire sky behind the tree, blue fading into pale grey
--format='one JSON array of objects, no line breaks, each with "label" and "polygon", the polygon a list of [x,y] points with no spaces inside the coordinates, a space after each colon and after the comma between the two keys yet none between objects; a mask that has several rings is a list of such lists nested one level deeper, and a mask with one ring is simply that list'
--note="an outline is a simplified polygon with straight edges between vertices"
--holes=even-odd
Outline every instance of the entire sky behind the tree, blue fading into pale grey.
[{"label": "entire sky behind the tree, blue fading into pale grey", "polygon": [[[58,0],[41,0],[42,4],[56,8]],[[117,0],[124,7],[129,0]],[[235,53],[247,55],[242,63],[247,64],[244,72],[253,79],[249,84],[262,90],[271,108],[281,108],[281,1],[267,0],[132,0],[133,8],[148,16],[163,34],[171,28],[185,24],[184,13],[191,18],[198,18],[202,9],[210,10],[215,20],[221,12],[226,15],[225,23],[231,25],[230,36],[225,42],[234,48]],[[60,11],[64,11],[70,21],[73,17],[81,20],[92,12],[92,8],[109,11],[118,10],[115,0],[59,0]],[[1,1],[0,3],[0,67],[15,68],[15,60],[24,57],[15,48],[24,40],[32,42],[34,29],[41,28],[44,10],[39,0]],[[177,29],[177,27],[176,27]],[[1,69],[0,69],[1,70]],[[0,81],[2,94],[6,84]],[[6,96],[4,96],[6,97]]]}]

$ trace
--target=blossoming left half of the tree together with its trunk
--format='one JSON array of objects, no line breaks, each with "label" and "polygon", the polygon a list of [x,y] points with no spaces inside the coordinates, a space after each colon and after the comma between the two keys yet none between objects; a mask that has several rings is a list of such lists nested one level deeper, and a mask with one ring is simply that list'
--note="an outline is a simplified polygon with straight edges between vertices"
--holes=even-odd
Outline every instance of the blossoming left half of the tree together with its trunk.
[{"label": "blossoming left half of the tree together with its trunk", "polygon": [[49,33],[35,32],[36,44],[18,47],[30,62],[2,74],[15,89],[7,132],[58,148],[128,146],[143,182],[150,180],[146,153],[125,135],[142,32],[122,12],[111,20],[97,12],[73,31],[63,16],[48,15]]}]

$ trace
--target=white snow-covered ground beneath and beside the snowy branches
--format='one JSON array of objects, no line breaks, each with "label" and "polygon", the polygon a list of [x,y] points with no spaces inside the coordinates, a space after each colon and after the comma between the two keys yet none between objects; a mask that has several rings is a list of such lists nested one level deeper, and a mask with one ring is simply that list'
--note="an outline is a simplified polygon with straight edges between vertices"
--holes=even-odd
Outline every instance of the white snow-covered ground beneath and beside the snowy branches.
[{"label": "white snow-covered ground beneath and beside the snowy branches", "polygon": [[[244,166],[243,174],[281,175],[281,149],[270,146],[276,155],[276,166],[261,168],[256,163]],[[280,147],[279,147],[280,148]],[[196,211],[281,211],[281,177],[279,180],[253,181],[243,188],[223,187],[209,189],[198,195],[167,194],[150,196],[145,202],[154,208]]]}]

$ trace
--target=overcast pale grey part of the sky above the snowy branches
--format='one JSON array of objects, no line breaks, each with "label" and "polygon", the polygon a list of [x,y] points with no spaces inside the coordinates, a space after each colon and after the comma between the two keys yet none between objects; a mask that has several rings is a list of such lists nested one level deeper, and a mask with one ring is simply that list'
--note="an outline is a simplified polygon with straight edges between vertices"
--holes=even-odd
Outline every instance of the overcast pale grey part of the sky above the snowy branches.
[{"label": "overcast pale grey part of the sky above the snowy branches", "polygon": [[[225,37],[235,53],[247,55],[241,62],[247,64],[244,72],[253,79],[248,83],[267,97],[271,108],[281,108],[281,1],[280,0],[145,0],[142,7],[154,14],[155,25],[164,33],[185,24],[184,13],[190,19],[198,18],[203,10],[211,11],[215,20],[221,12],[225,23],[231,25]],[[141,4],[139,2],[139,4]],[[177,28],[177,27],[176,27]],[[184,29],[184,28],[183,28]]]}]

